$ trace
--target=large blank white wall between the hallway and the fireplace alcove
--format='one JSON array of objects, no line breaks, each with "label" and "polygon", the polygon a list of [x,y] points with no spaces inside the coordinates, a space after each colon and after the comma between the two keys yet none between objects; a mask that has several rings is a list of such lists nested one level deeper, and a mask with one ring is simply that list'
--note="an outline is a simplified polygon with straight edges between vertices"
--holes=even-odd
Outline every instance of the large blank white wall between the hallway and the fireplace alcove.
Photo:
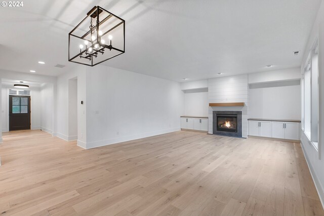
[{"label": "large blank white wall between the hallway and the fireplace alcove", "polygon": [[180,130],[177,82],[103,65],[87,68],[87,149]]}]

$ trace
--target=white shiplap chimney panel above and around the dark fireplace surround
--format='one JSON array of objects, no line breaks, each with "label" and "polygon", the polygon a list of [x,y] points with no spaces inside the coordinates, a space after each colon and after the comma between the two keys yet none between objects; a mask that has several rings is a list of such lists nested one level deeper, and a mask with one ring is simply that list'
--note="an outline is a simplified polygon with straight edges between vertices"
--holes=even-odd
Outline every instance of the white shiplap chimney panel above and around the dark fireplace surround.
[{"label": "white shiplap chimney panel above and around the dark fireplace surround", "polygon": [[248,137],[248,75],[208,80],[209,103],[245,102],[245,106],[209,107],[209,133],[213,133],[213,111],[242,111],[242,137]]}]

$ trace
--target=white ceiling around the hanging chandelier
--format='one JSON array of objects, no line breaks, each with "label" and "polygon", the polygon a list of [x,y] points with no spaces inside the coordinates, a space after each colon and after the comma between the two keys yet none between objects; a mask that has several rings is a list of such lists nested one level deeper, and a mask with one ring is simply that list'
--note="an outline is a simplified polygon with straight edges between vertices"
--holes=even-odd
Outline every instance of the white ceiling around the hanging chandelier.
[{"label": "white ceiling around the hanging chandelier", "polygon": [[126,20],[126,52],[108,66],[177,82],[297,67],[320,2],[24,1],[0,7],[0,69],[58,76],[75,67],[68,33],[95,5]]}]

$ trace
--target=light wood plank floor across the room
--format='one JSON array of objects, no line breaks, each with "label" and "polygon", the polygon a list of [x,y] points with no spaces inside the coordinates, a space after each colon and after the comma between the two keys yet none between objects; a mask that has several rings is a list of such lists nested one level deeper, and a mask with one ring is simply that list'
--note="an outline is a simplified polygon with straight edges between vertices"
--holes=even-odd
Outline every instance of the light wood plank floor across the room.
[{"label": "light wood plank floor across the room", "polygon": [[1,215],[324,215],[299,143],[179,131],[83,150],[0,145]]}]

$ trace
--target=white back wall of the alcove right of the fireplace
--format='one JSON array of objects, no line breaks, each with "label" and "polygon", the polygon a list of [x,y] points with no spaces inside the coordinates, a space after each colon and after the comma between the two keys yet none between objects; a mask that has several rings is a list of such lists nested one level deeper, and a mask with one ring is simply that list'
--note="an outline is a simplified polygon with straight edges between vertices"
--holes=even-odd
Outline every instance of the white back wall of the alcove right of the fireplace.
[{"label": "white back wall of the alcove right of the fireplace", "polygon": [[249,118],[301,119],[300,85],[250,88]]}]

